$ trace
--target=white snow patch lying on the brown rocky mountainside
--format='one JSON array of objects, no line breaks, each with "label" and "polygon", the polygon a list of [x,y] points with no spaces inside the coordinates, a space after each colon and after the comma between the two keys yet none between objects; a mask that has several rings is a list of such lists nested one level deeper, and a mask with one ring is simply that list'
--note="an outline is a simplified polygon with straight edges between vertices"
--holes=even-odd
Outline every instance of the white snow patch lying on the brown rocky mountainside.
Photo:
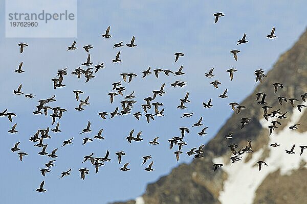
[{"label": "white snow patch lying on the brown rocky mountainside", "polygon": [[[307,103],[304,103],[304,105],[307,105]],[[299,112],[295,108],[288,125],[282,131],[278,133],[273,131],[271,136],[268,136],[270,138],[269,145],[271,143],[278,143],[280,146],[269,146],[270,156],[265,159],[268,166],[262,165],[261,171],[258,169],[257,162],[260,160],[263,149],[254,152],[252,158],[247,163],[244,163],[247,154],[243,154],[243,161],[238,161],[233,164],[229,163],[222,167],[228,174],[228,178],[224,181],[224,189],[220,192],[218,198],[221,203],[251,204],[253,203],[256,190],[269,173],[280,169],[281,175],[291,174],[292,170],[299,168],[302,160],[307,161],[307,149],[300,156],[299,147],[300,145],[307,145],[307,132],[299,133],[298,131],[289,129],[289,126],[298,123],[304,111],[305,109],[302,109],[302,112]],[[275,118],[270,119],[269,121],[265,119],[259,121],[262,127],[268,130],[268,135],[268,126],[272,124],[271,121]],[[286,154],[286,149],[290,150],[293,144],[295,144],[295,154]],[[226,161],[224,161],[223,157],[218,157],[213,162],[225,164]]]}]

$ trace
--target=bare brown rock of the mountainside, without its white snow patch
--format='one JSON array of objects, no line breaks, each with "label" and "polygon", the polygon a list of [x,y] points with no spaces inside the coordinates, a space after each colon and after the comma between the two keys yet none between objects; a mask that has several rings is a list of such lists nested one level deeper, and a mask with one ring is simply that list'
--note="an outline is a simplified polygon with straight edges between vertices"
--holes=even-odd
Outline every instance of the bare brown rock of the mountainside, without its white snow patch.
[{"label": "bare brown rock of the mountainside, without its white snow patch", "polygon": [[[262,129],[259,119],[264,114],[261,105],[255,101],[256,93],[264,92],[268,95],[266,101],[273,110],[280,109],[281,112],[288,111],[288,119],[291,117],[293,108],[289,101],[280,106],[277,97],[295,97],[300,100],[300,95],[307,92],[307,32],[305,32],[294,46],[280,56],[279,60],[268,73],[268,78],[259,84],[254,92],[248,96],[240,105],[248,107],[240,114],[233,114],[224,124],[216,136],[204,147],[205,157],[195,159],[190,164],[182,164],[174,168],[169,175],[161,177],[156,183],[149,184],[143,199],[146,204],[160,203],[220,203],[218,196],[223,190],[223,183],[227,179],[227,173],[221,169],[212,172],[212,158],[228,157],[228,145],[246,145],[251,140],[253,150],[268,145],[268,130]],[[283,89],[274,93],[273,83],[282,83]],[[296,103],[295,106],[299,103]],[[243,130],[240,129],[241,118],[251,118],[251,121]],[[307,111],[301,117],[300,132],[307,131]],[[282,126],[275,131],[280,131],[286,125],[288,119],[282,120]],[[287,127],[288,128],[288,127]],[[224,138],[229,132],[234,132],[231,140]],[[270,151],[264,151],[262,157],[270,156]],[[251,154],[252,155],[252,154]],[[254,203],[305,203],[304,200],[296,199],[296,196],[305,197],[307,182],[300,180],[307,177],[307,171],[300,168],[291,175],[280,176],[279,171],[269,174],[256,191]],[[275,188],[279,186],[279,188]],[[296,187],[300,189],[296,191]],[[286,197],[285,197],[286,196]],[[117,202],[118,204],[121,202]],[[128,201],[123,203],[135,203]]]}]

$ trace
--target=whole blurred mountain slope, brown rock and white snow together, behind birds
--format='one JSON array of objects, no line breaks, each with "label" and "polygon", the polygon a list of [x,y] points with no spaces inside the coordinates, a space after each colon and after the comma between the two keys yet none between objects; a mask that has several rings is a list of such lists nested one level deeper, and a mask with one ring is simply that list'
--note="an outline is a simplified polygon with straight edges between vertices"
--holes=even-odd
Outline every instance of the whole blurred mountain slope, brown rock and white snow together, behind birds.
[{"label": "whole blurred mountain slope, brown rock and white snow together, behind birds", "polygon": [[[280,56],[274,67],[267,73],[268,78],[259,84],[254,92],[240,105],[246,106],[240,114],[234,113],[216,136],[204,147],[204,158],[195,159],[191,164],[174,168],[169,175],[149,184],[146,192],[136,200],[119,203],[305,203],[307,183],[307,149],[300,156],[300,145],[307,145],[307,111],[298,104],[305,104],[300,97],[307,92],[307,32],[302,34],[294,46]],[[274,94],[273,83],[282,83],[284,88]],[[269,118],[262,115],[264,109],[256,102],[256,93],[268,95],[266,101],[273,110],[287,113],[287,119]],[[281,106],[277,97],[299,99],[294,108],[288,103]],[[241,118],[251,118],[243,130]],[[268,126],[272,120],[282,122],[269,136]],[[300,123],[298,130],[289,127]],[[224,136],[233,132],[233,139]],[[245,147],[252,142],[254,152],[243,154],[242,161],[231,164],[232,152],[228,145]],[[280,144],[279,147],[270,146]],[[286,154],[295,144],[294,155]],[[239,149],[239,147],[237,149]],[[257,161],[266,161],[268,166],[258,170]],[[213,163],[224,166],[213,173]],[[176,179],[174,179],[176,178]],[[278,187],[278,188],[277,188]]]}]

